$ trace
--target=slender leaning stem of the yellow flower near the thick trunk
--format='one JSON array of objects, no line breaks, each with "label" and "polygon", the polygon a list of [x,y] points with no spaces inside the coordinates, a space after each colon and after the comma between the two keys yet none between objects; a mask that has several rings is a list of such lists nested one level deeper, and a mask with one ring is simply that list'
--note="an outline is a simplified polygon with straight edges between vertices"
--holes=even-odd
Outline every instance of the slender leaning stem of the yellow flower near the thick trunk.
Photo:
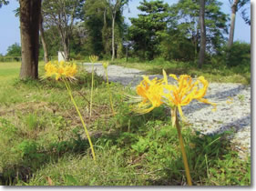
[{"label": "slender leaning stem of the yellow flower near the thick trunk", "polygon": [[85,131],[86,131],[87,138],[88,138],[88,141],[89,141],[89,145],[90,145],[90,148],[91,148],[92,156],[93,156],[93,159],[94,159],[94,161],[95,161],[95,163],[96,163],[95,152],[94,152],[94,148],[93,148],[93,145],[92,145],[92,141],[91,141],[90,136],[89,136],[88,131],[87,131],[87,126],[86,126],[86,124],[85,124],[85,122],[84,122],[84,120],[83,120],[83,117],[82,117],[82,115],[81,115],[79,109],[78,109],[77,103],[76,103],[76,101],[75,101],[75,99],[74,99],[74,97],[73,97],[73,95],[72,95],[70,85],[68,84],[67,79],[65,79],[65,78],[64,78],[64,83],[65,83],[65,85],[66,85],[66,87],[67,87],[67,92],[68,92],[68,94],[70,95],[71,101],[72,101],[72,103],[74,104],[74,106],[76,107],[77,114],[78,114],[78,116],[80,117],[80,120],[81,120],[81,122],[82,122],[82,125],[84,126],[84,129],[85,129]]}]

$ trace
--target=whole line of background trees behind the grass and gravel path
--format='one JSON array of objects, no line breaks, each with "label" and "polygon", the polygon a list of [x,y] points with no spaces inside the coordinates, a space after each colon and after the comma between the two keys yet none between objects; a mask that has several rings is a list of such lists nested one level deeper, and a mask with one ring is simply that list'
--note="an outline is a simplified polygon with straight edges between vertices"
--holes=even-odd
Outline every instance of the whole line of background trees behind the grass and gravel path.
[{"label": "whole line of background trees behind the grass and gravel path", "polygon": [[[7,2],[1,0],[0,5]],[[24,2],[29,5],[27,0],[19,2],[20,10]],[[35,2],[41,5],[37,16],[41,39],[38,54],[45,55],[46,61],[57,51],[64,51],[67,60],[84,59],[87,55],[112,60],[129,56],[141,61],[163,58],[199,62],[199,67],[216,59],[226,65],[239,65],[241,59],[250,59],[251,45],[233,45],[236,13],[240,11],[251,25],[249,10],[243,8],[249,0],[230,0],[231,15],[221,12],[222,3],[218,0],[179,0],[174,5],[143,0],[138,6],[141,14],[129,18],[130,25],[123,15],[128,0]],[[20,17],[26,16],[22,13],[25,12],[20,11]],[[26,19],[20,20],[22,24]]]}]

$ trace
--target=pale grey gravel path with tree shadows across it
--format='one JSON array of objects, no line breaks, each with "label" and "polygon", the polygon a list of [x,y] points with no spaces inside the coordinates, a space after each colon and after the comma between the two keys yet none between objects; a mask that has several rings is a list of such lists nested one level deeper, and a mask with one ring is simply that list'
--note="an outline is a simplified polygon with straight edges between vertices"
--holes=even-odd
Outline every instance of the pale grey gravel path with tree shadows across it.
[{"label": "pale grey gravel path with tree shadows across it", "polygon": [[[85,64],[88,71],[90,64]],[[95,64],[97,75],[105,77],[101,64]],[[122,85],[135,87],[145,73],[138,69],[118,65],[108,66],[108,79]],[[150,78],[162,78],[162,75],[149,75]],[[217,111],[212,106],[192,101],[183,106],[184,116],[191,126],[203,134],[211,135],[226,130],[235,132],[230,136],[231,143],[239,150],[241,157],[251,154],[251,86],[231,83],[210,83],[207,95],[210,102],[218,104]]]}]

